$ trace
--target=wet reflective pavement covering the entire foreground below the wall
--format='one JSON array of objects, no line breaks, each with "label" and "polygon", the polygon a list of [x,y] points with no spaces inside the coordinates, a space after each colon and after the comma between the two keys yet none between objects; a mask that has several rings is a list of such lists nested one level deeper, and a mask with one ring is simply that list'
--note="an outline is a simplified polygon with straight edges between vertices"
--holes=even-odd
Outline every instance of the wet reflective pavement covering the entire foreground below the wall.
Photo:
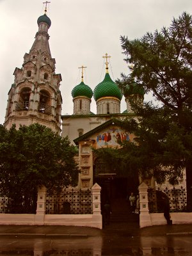
[{"label": "wet reflective pavement covering the entire foreground below the wall", "polygon": [[192,255],[192,225],[0,226],[0,255]]}]

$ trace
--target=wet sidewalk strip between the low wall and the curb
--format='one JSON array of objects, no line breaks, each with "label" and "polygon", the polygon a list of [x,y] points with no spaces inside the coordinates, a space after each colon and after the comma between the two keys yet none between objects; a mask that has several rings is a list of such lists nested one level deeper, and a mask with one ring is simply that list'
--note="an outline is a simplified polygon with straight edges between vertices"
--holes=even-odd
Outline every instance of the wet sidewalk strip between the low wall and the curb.
[{"label": "wet sidewalk strip between the low wall and the curb", "polygon": [[139,228],[138,223],[111,223],[102,230],[90,227],[68,226],[26,226],[26,225],[0,225],[0,237],[2,236],[169,236],[191,235],[192,225],[159,225]]}]

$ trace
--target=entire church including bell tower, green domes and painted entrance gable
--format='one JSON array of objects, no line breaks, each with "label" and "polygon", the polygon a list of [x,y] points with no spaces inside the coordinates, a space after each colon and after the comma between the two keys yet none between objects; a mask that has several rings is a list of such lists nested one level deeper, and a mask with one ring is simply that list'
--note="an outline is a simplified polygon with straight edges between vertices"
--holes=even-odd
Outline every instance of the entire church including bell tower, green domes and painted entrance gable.
[{"label": "entire church including bell tower, green domes and painted entrance gable", "polygon": [[[135,177],[134,182],[127,177],[118,177],[113,166],[110,169],[107,167],[107,159],[99,159],[93,154],[92,147],[119,147],[119,141],[134,138],[133,134],[128,134],[116,125],[115,121],[134,116],[129,99],[136,97],[141,104],[143,92],[128,88],[124,93],[127,109],[121,113],[122,92],[111,79],[108,71],[110,56],[106,53],[103,56],[106,58],[103,81],[92,91],[84,84],[85,67],[82,66],[81,83],[72,90],[73,114],[61,116],[61,74],[55,72],[56,61],[49,48],[51,20],[47,17],[47,8],[44,15],[38,18],[37,24],[35,42],[29,53],[24,54],[22,68],[15,68],[13,72],[15,79],[8,92],[4,126],[10,129],[13,124],[18,128],[19,125],[38,123],[54,132],[62,131],[63,137],[68,136],[71,143],[79,148],[77,161],[81,173],[77,188],[90,189],[97,182],[102,191],[106,189],[109,197],[116,195],[117,191],[124,196],[131,191],[138,193],[138,177]],[[97,104],[95,114],[91,111],[92,97]]]}]

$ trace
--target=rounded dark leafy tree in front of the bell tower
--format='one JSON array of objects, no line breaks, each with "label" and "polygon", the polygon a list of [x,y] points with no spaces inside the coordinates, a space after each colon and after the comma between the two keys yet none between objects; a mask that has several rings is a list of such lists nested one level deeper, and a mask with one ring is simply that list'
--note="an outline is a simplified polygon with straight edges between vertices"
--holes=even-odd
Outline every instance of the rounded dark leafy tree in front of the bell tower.
[{"label": "rounded dark leafy tree in front of the bell tower", "polygon": [[76,147],[68,138],[51,129],[32,124],[15,125],[6,130],[0,125],[0,193],[12,199],[12,209],[20,205],[22,211],[28,207],[38,187],[60,191],[64,186],[76,186],[79,169],[74,156]]}]

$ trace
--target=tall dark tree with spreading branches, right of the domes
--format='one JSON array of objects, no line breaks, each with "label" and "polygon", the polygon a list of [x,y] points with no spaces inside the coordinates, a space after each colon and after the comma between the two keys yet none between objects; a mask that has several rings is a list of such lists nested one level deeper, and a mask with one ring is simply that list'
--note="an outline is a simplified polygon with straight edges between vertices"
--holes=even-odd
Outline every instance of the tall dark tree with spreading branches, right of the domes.
[{"label": "tall dark tree with spreading branches, right of the domes", "polygon": [[[169,28],[146,33],[140,39],[122,36],[122,49],[131,73],[116,83],[130,97],[136,118],[122,126],[134,132],[133,142],[122,145],[127,172],[168,179],[177,184],[186,168],[188,209],[192,208],[192,17],[184,12]],[[137,104],[137,92],[152,93],[153,102]],[[132,93],[135,97],[132,97]],[[121,171],[121,168],[120,168]]]}]

